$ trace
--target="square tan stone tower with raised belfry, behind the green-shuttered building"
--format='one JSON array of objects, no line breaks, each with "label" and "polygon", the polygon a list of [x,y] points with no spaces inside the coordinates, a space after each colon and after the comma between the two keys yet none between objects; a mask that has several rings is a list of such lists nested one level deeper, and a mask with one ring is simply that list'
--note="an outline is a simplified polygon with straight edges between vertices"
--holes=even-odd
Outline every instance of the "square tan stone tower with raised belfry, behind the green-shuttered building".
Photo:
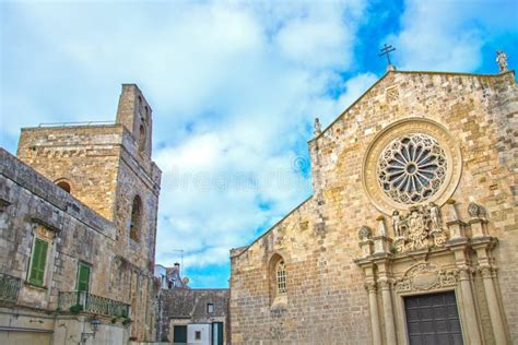
[{"label": "square tan stone tower with raised belfry, behind the green-shuttered building", "polygon": [[[150,340],[153,330],[152,271],[162,174],[151,160],[151,114],[139,87],[123,84],[115,122],[24,128],[17,148],[20,159],[113,222],[115,254],[106,264],[115,273],[109,288],[114,298],[131,304],[131,335],[139,340]],[[74,210],[73,204],[63,207]]]}]

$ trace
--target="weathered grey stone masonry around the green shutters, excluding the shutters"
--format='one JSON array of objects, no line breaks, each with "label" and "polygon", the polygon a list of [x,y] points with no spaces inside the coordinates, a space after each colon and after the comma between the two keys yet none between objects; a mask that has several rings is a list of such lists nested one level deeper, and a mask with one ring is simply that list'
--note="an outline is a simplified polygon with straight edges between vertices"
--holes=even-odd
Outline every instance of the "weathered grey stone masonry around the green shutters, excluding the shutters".
[{"label": "weathered grey stone masonry around the green shutters, excluding the shutters", "polygon": [[[109,278],[110,265],[105,264],[107,259],[110,261],[115,257],[114,224],[3,148],[0,148],[0,200],[3,204],[0,211],[0,272],[22,282],[15,304],[0,301],[1,325],[26,330],[27,334],[38,330],[35,337],[31,337],[35,342],[40,337],[38,332],[54,332],[55,343],[69,344],[74,338],[76,344],[84,320],[79,322],[72,317],[72,321],[66,322],[67,326],[79,330],[79,333],[70,330],[66,342],[59,320],[70,317],[66,317],[68,310],[58,311],[58,296],[76,290],[78,264],[84,262],[92,266],[91,293],[121,300],[119,286]],[[27,282],[36,233],[47,236],[50,241],[43,287]],[[89,319],[85,320],[89,323]],[[120,342],[127,342],[129,329],[122,321],[104,319],[101,333],[116,334]]]}]

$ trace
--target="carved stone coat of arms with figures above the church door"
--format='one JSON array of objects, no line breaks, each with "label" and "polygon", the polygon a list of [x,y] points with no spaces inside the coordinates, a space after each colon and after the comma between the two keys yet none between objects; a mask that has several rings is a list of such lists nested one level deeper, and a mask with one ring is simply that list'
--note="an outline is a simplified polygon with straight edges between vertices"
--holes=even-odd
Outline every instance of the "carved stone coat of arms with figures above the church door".
[{"label": "carved stone coat of arms with figures above the church door", "polygon": [[432,246],[442,247],[448,239],[443,229],[440,209],[435,203],[412,206],[408,213],[392,213],[397,252],[419,250]]}]

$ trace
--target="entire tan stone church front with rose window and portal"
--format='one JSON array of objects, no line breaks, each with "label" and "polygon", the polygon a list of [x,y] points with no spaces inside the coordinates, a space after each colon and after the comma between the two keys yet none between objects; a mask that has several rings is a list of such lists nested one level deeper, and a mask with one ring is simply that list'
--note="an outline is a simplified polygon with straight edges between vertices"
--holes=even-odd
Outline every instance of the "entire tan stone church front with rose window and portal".
[{"label": "entire tan stone church front with rose window and portal", "polygon": [[389,70],[316,126],[314,194],[231,251],[233,344],[518,343],[517,112],[513,71]]}]

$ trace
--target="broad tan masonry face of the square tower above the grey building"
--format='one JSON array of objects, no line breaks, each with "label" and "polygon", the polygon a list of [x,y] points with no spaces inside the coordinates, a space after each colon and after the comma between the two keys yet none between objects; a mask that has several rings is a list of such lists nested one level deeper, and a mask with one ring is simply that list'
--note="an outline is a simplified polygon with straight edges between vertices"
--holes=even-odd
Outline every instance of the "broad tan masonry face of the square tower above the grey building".
[{"label": "broad tan masonry face of the square tower above the grey building", "polygon": [[24,128],[17,157],[52,181],[67,180],[72,195],[114,221],[122,132],[121,124]]}]

